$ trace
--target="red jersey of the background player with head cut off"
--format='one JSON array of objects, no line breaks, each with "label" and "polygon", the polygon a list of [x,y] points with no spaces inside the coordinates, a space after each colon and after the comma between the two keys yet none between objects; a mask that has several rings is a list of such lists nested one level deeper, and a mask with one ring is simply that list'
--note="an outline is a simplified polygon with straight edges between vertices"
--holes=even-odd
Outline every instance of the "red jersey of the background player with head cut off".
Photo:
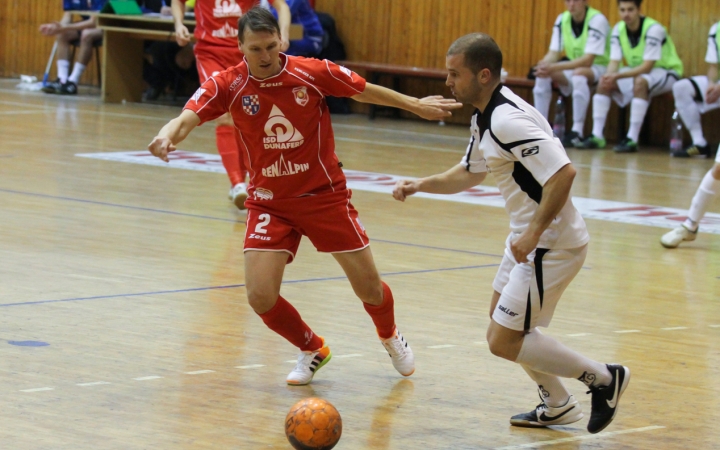
[{"label": "red jersey of the background player with head cut off", "polygon": [[[180,0],[186,3],[187,0]],[[237,21],[260,0],[197,0],[195,39],[197,45],[237,47]]]}]

